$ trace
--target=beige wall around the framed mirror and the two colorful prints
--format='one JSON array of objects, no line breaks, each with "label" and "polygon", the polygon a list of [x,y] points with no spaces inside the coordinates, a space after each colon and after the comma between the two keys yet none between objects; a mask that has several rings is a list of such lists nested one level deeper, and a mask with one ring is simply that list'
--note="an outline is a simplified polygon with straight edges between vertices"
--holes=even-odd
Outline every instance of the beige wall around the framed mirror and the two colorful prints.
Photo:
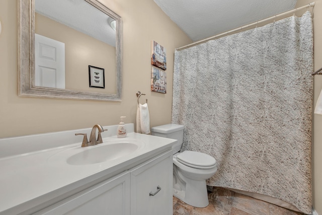
[{"label": "beige wall around the framed mirror and the two colorful prints", "polygon": [[[102,0],[123,18],[123,100],[18,97],[17,1],[0,1],[0,137],[135,122],[136,91],[146,93],[151,126],[171,122],[174,49],[192,42],[151,0]],[[167,49],[167,94],[150,90],[151,40]],[[88,83],[87,83],[88,84]]]}]

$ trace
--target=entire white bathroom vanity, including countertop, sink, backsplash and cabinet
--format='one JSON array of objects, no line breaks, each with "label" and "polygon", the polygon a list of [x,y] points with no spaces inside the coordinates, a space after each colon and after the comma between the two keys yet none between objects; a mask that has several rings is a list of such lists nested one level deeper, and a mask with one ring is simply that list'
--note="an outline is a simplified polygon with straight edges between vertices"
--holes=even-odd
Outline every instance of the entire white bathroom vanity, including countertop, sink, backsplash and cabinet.
[{"label": "entire white bathroom vanity, including countertop, sink, backsplash and cabinet", "polygon": [[104,126],[103,144],[88,148],[74,134],[93,128],[0,138],[0,215],[172,215],[177,140],[125,126],[125,138],[115,135],[118,125]]}]

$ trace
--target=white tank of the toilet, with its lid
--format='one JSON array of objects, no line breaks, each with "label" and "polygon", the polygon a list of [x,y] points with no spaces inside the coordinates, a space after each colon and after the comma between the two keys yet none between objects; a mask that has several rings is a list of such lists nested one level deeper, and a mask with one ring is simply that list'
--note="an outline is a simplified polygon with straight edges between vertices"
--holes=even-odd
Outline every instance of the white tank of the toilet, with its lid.
[{"label": "white tank of the toilet, with its lid", "polygon": [[151,128],[151,134],[171,139],[177,139],[178,142],[172,146],[173,154],[180,151],[183,142],[183,129],[185,126],[178,124],[166,124]]}]

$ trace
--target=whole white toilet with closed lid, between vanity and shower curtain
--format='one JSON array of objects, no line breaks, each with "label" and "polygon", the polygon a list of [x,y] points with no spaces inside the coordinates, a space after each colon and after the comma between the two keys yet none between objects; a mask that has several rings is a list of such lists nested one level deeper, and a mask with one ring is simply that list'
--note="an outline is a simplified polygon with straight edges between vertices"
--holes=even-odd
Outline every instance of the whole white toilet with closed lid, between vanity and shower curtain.
[{"label": "whole white toilet with closed lid, between vanity and shower curtain", "polygon": [[217,171],[216,160],[204,153],[184,151],[183,125],[167,124],[152,127],[152,135],[177,139],[173,149],[173,195],[195,207],[209,204],[206,179]]}]

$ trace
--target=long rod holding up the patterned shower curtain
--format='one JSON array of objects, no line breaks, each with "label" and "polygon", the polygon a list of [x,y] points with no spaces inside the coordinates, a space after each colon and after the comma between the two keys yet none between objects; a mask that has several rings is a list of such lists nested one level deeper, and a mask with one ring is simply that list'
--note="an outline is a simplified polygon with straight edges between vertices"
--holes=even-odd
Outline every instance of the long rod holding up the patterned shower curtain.
[{"label": "long rod holding up the patterned shower curtain", "polygon": [[223,36],[223,35],[228,35],[229,33],[232,33],[232,32],[235,32],[235,31],[240,31],[244,28],[248,28],[248,27],[251,27],[253,25],[257,25],[259,23],[262,23],[262,22],[266,22],[266,21],[269,21],[269,20],[272,20],[272,19],[275,19],[275,18],[278,18],[278,17],[281,17],[281,16],[285,16],[287,14],[291,14],[291,13],[295,13],[296,11],[299,11],[299,10],[302,10],[304,8],[310,8],[310,7],[314,7],[315,5],[315,2],[312,2],[308,5],[304,5],[302,7],[299,7],[299,8],[295,8],[293,10],[290,10],[290,11],[287,11],[287,12],[284,12],[282,14],[278,14],[278,15],[275,15],[275,16],[272,16],[272,17],[269,17],[269,18],[266,18],[266,19],[263,19],[263,20],[260,20],[260,21],[257,21],[257,22],[254,22],[254,23],[251,23],[251,24],[248,24],[248,25],[244,25],[244,26],[241,26],[239,28],[235,28],[233,30],[230,30],[230,31],[226,31],[224,33],[221,33],[221,34],[217,34],[215,36],[212,36],[212,37],[208,37],[206,39],[203,39],[203,40],[199,40],[197,42],[194,42],[194,43],[191,43],[191,44],[188,44],[188,45],[185,45],[185,46],[182,46],[180,48],[176,48],[175,50],[179,51],[179,50],[182,50],[182,49],[186,49],[186,48],[189,48],[191,46],[194,46],[194,45],[198,45],[198,44],[201,44],[201,43],[204,43],[204,42],[207,42],[209,40],[212,40],[212,39],[215,39],[216,37],[220,37],[220,36]]}]

